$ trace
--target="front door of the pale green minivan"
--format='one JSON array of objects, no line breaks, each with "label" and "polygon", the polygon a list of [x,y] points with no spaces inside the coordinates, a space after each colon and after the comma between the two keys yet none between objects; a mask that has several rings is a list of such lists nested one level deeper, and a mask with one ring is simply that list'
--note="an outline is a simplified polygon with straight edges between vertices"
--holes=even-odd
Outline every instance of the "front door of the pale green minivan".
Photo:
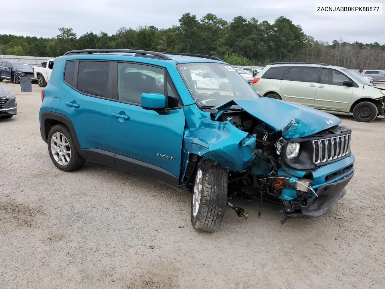
[{"label": "front door of the pale green minivan", "polygon": [[318,77],[314,108],[345,111],[352,99],[353,87],[344,86],[344,81],[352,81],[340,71],[322,68]]}]

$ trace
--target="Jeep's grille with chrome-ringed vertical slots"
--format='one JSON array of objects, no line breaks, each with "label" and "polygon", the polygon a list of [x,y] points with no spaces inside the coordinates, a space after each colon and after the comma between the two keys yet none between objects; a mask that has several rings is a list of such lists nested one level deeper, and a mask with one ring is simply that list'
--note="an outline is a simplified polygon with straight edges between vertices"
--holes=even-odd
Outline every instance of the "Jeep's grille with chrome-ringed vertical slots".
[{"label": "Jeep's grille with chrome-ringed vertical slots", "polygon": [[313,162],[326,163],[348,155],[350,151],[350,133],[313,141]]}]

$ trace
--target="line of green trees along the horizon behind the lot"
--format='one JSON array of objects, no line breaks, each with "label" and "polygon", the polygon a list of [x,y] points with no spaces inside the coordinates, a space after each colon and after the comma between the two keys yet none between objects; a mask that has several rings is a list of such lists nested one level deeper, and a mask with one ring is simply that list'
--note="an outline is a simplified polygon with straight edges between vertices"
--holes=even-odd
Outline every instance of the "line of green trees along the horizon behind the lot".
[{"label": "line of green trees along the horizon behind the lot", "polygon": [[278,17],[273,24],[242,16],[227,22],[208,13],[201,19],[185,13],[167,29],[121,27],[115,34],[59,28],[52,38],[0,35],[0,54],[56,57],[68,50],[118,48],[208,54],[231,65],[265,66],[277,61],[322,62],[349,69],[385,69],[385,44],[316,41],[300,25]]}]

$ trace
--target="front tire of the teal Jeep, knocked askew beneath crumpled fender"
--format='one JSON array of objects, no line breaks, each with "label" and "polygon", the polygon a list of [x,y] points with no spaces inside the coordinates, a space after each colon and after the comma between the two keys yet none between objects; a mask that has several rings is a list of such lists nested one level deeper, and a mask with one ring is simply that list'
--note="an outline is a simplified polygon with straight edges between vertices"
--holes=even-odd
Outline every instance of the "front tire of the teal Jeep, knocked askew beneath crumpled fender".
[{"label": "front tire of the teal Jeep, knocked askew beneath crumpled fender", "polygon": [[191,223],[194,229],[203,232],[219,229],[226,208],[227,186],[228,172],[218,163],[205,171],[198,166],[191,195]]}]

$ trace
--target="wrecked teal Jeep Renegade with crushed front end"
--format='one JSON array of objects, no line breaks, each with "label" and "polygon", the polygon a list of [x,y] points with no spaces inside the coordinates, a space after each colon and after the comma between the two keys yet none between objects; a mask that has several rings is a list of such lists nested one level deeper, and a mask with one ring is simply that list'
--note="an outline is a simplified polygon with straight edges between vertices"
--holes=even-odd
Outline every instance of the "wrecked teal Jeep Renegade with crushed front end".
[{"label": "wrecked teal Jeep Renegade with crushed front end", "polygon": [[[229,85],[199,88],[197,71]],[[259,97],[207,55],[69,51],[55,59],[39,115],[57,168],[75,171],[88,160],[190,190],[192,226],[201,231],[219,228],[226,205],[247,218],[229,202],[238,197],[281,205],[283,220],[318,217],[354,173],[352,131],[340,119]]]}]

